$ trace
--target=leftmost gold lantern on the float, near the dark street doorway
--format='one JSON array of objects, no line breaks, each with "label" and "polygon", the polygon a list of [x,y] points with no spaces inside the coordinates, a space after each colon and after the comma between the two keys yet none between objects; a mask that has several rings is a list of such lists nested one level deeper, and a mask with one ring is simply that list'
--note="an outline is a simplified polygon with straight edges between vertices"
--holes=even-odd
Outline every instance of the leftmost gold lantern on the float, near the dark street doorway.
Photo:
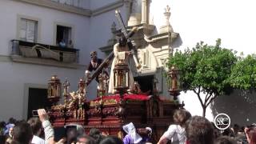
[{"label": "leftmost gold lantern on the float, near the dark street doorway", "polygon": [[56,75],[53,75],[48,83],[48,98],[61,97],[61,82]]}]

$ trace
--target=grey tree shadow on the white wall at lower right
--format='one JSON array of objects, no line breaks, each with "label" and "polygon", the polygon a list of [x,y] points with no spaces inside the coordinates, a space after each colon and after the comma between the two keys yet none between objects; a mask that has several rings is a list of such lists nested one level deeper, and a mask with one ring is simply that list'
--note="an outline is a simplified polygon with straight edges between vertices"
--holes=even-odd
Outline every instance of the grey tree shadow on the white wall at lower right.
[{"label": "grey tree shadow on the white wall at lower right", "polygon": [[218,97],[211,105],[214,116],[225,113],[230,116],[231,125],[247,126],[256,122],[256,97],[254,93],[234,90],[230,95]]}]

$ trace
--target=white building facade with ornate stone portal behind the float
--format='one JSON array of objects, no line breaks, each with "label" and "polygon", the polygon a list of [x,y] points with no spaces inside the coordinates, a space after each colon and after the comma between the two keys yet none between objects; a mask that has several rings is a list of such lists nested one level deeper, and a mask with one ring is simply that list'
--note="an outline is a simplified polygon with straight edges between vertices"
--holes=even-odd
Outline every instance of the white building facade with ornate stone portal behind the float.
[{"label": "white building facade with ornate stone portal behind the float", "polygon": [[[158,90],[162,95],[168,95],[161,70],[173,50],[191,48],[200,41],[214,45],[215,40],[221,38],[223,47],[244,54],[255,52],[254,6],[253,0],[2,0],[0,121],[10,117],[26,119],[29,98],[32,97],[29,96],[30,88],[46,89],[47,80],[53,74],[62,82],[68,78],[70,90],[76,90],[78,79],[90,61],[90,51],[97,50],[98,57],[104,58],[106,54],[102,52],[111,50],[116,42],[114,34],[119,29],[114,15],[116,9],[121,11],[126,25],[139,27],[134,41],[143,68],[134,76],[158,78]],[[60,38],[72,40],[74,49],[79,50],[78,61],[31,60],[12,51],[13,39],[56,46]],[[93,82],[88,88],[90,99],[96,94],[95,84]],[[192,114],[202,114],[195,94],[182,93],[179,98]],[[213,120],[215,114],[226,113],[231,121],[236,118],[237,123],[256,121],[253,119],[256,118],[254,105],[248,105],[243,98],[242,105],[238,104],[238,101],[242,102],[241,98],[238,92],[218,98],[212,109],[206,111],[206,117]]]}]

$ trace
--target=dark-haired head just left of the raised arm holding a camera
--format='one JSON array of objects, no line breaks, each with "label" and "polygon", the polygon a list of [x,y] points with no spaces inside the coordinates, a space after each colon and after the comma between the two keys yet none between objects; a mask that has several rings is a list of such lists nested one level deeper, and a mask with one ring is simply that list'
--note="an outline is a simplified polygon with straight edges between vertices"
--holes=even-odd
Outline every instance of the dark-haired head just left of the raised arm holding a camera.
[{"label": "dark-haired head just left of the raised arm holding a camera", "polygon": [[34,135],[40,135],[41,134],[41,131],[42,131],[42,122],[40,121],[39,118],[30,118],[28,120],[28,123],[30,124],[31,126],[31,129],[32,129],[32,132]]}]

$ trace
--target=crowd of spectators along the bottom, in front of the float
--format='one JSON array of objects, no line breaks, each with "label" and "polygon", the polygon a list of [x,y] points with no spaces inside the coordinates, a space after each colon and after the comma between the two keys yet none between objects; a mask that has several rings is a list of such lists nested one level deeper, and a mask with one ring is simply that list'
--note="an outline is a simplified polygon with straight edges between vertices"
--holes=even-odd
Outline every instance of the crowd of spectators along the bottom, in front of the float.
[{"label": "crowd of spectators along the bottom, in front of the float", "polygon": [[[218,130],[213,122],[201,116],[191,116],[187,110],[176,110],[174,123],[162,134],[158,144],[256,144],[256,125],[240,127],[237,124],[226,130]],[[150,127],[146,133],[138,133],[134,123],[122,126],[126,133],[121,139],[92,128],[89,134],[83,126],[70,124],[64,126],[64,135],[51,126],[46,110],[38,110],[38,117],[26,121],[0,122],[0,143],[6,144],[146,144],[154,143]],[[54,134],[55,133],[55,134]],[[59,137],[61,136],[61,137]],[[59,137],[59,138],[58,138]]]}]

